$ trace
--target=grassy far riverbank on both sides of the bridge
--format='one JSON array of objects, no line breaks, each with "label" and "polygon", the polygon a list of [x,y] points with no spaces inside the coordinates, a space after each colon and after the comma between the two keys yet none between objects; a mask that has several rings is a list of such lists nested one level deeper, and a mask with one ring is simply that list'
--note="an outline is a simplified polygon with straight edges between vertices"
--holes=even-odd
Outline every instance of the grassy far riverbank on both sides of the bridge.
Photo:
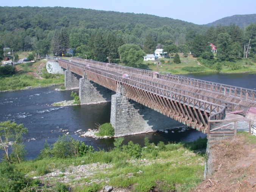
[{"label": "grassy far riverbank on both sides of the bridge", "polygon": [[[48,73],[46,62],[46,60],[41,60],[34,63],[17,64],[15,66],[17,71],[15,75],[1,77],[0,91],[27,90],[64,84],[64,75]],[[237,67],[234,68],[234,65]],[[172,63],[172,59],[164,59],[164,62],[159,67],[156,67],[156,62],[144,62],[141,68],[177,75],[218,73],[215,69],[198,64],[197,58],[192,57],[181,57],[181,64]],[[252,59],[242,59],[235,63],[225,62],[220,73],[256,73],[256,63]]]}]

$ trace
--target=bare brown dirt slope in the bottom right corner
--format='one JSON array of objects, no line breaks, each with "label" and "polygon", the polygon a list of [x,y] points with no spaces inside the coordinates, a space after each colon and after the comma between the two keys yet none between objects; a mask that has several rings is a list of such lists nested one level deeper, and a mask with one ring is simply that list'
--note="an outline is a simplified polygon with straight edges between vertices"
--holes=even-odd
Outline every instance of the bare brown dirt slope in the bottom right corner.
[{"label": "bare brown dirt slope in the bottom right corner", "polygon": [[256,137],[245,134],[212,146],[214,174],[196,192],[256,192]]}]

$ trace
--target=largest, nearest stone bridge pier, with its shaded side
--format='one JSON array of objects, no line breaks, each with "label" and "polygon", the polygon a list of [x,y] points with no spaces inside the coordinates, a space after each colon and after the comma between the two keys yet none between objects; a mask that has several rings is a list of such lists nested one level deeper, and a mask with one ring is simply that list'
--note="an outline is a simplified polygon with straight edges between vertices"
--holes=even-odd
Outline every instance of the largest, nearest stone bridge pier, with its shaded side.
[{"label": "largest, nearest stone bridge pier, with its shaded side", "polygon": [[173,123],[184,126],[170,117],[118,94],[112,95],[111,98],[110,123],[115,129],[115,136],[166,130],[171,128]]}]

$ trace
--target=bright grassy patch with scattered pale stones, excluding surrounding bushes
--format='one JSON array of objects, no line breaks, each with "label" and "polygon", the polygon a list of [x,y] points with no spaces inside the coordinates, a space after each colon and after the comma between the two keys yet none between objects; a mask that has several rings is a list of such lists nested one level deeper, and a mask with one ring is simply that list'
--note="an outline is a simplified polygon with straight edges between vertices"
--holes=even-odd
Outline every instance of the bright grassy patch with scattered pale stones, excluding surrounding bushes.
[{"label": "bright grassy patch with scattered pale stones, excluding surrounding bushes", "polygon": [[17,169],[39,179],[47,189],[55,189],[56,183],[61,182],[75,192],[98,191],[106,185],[137,192],[152,189],[186,192],[203,178],[206,142],[199,139],[191,143],[158,144],[158,147],[149,144],[137,158],[132,155],[135,145],[129,148],[128,144],[82,157],[26,161],[17,164]]}]

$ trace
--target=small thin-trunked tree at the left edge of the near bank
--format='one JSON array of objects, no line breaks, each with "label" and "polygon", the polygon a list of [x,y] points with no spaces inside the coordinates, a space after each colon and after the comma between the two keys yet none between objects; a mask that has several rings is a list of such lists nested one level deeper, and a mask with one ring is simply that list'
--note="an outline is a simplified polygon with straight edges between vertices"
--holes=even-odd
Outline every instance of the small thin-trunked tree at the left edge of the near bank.
[{"label": "small thin-trunked tree at the left edge of the near bank", "polygon": [[[24,145],[22,144],[23,134],[28,130],[23,124],[17,125],[15,122],[0,122],[0,149],[4,150],[6,160],[11,162],[21,162],[25,155]],[[9,154],[9,145],[12,152]]]}]

